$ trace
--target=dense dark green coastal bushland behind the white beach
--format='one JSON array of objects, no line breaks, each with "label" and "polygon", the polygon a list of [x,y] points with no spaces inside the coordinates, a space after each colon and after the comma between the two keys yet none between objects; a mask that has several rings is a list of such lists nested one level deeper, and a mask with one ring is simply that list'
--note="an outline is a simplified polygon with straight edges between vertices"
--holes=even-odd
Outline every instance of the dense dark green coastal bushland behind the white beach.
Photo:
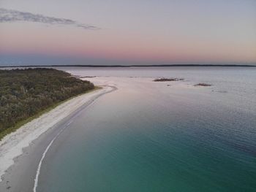
[{"label": "dense dark green coastal bushland behind the white beach", "polygon": [[61,101],[94,89],[56,69],[0,70],[0,139]]}]

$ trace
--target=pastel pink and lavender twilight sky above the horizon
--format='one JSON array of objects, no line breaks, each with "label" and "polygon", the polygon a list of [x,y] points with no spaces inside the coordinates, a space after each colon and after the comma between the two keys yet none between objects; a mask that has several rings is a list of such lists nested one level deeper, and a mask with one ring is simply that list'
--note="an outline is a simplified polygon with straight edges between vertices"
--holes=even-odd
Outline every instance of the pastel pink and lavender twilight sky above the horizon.
[{"label": "pastel pink and lavender twilight sky above the horizon", "polygon": [[255,0],[0,0],[0,66],[256,64]]}]

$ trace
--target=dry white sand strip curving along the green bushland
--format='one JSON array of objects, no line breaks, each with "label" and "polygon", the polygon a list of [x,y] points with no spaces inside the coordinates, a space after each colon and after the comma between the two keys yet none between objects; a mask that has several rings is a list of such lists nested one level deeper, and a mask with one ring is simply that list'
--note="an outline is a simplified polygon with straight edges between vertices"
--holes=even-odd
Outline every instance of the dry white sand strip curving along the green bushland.
[{"label": "dry white sand strip curving along the green bushland", "polygon": [[42,134],[60,123],[61,120],[83,110],[99,96],[115,90],[113,86],[103,86],[102,89],[75,96],[3,137],[0,141],[0,183],[4,180],[7,170],[16,163],[15,160],[23,155],[24,149]]}]

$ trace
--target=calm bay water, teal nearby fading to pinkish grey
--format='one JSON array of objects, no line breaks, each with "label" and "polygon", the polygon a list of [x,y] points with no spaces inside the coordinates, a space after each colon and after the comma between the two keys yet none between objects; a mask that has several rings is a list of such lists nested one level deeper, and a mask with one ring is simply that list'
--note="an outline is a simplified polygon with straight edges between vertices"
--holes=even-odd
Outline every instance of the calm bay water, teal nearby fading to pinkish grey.
[{"label": "calm bay water, teal nearby fading to pinkish grey", "polygon": [[118,80],[53,143],[38,191],[255,191],[256,69],[65,70],[185,81]]}]

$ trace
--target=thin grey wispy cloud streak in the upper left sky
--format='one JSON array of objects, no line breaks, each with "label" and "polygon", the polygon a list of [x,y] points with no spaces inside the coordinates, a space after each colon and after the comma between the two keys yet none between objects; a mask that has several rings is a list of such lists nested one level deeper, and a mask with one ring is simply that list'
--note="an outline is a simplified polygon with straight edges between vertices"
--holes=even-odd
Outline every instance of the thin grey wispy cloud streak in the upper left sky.
[{"label": "thin grey wispy cloud streak in the upper left sky", "polygon": [[0,23],[11,23],[16,21],[46,23],[51,25],[75,26],[78,28],[92,30],[99,29],[97,26],[85,25],[83,23],[78,23],[75,20],[53,18],[45,15],[33,14],[31,12],[20,12],[17,10],[0,8]]}]

